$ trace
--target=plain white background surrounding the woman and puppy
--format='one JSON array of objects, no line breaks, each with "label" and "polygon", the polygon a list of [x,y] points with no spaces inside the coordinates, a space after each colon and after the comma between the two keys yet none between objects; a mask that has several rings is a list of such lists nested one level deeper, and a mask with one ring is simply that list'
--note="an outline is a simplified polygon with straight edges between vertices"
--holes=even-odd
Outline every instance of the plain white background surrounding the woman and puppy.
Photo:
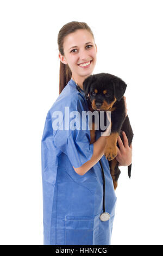
[{"label": "plain white background surrounding the woman and puppy", "polygon": [[162,1],[1,1],[1,245],[42,245],[41,137],[59,94],[57,36],[86,22],[93,74],[127,84],[131,179],[121,167],[112,245],[162,245]]}]

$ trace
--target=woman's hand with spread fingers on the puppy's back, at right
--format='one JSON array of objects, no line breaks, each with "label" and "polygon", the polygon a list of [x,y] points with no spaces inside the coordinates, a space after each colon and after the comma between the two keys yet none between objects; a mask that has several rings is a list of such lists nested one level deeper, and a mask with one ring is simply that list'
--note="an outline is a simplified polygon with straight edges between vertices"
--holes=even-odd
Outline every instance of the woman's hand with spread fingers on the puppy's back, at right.
[{"label": "woman's hand with spread fingers on the puppy's back, at right", "polygon": [[129,166],[132,162],[132,143],[129,147],[126,133],[123,131],[122,134],[123,134],[123,142],[121,137],[118,136],[118,144],[120,146],[120,149],[118,149],[117,147],[118,154],[115,158],[119,162],[119,166]]}]

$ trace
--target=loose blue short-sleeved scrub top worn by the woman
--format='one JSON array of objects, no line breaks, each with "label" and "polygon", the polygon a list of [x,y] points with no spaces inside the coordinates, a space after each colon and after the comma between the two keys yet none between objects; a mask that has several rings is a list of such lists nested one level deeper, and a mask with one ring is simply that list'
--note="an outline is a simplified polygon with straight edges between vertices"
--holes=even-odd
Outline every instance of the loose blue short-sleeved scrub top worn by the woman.
[{"label": "loose blue short-sleeved scrub top worn by the woman", "polygon": [[[90,130],[82,130],[82,122],[80,129],[66,130],[64,124],[69,125],[75,116],[68,120],[65,107],[69,113],[80,113],[76,120],[82,118],[83,111],[89,111],[83,90],[79,92],[72,79],[49,109],[41,141],[43,244],[110,245],[116,195],[109,162],[103,155],[105,212],[110,214],[110,218],[102,222],[99,216],[103,212],[103,179],[99,162],[84,175],[73,169],[92,157]],[[54,129],[56,111],[62,113],[62,121],[58,124],[59,127],[63,125],[63,130]],[[85,117],[88,127],[89,120],[87,115]],[[71,125],[77,124],[73,121]],[[100,135],[100,131],[96,131],[96,140]]]}]

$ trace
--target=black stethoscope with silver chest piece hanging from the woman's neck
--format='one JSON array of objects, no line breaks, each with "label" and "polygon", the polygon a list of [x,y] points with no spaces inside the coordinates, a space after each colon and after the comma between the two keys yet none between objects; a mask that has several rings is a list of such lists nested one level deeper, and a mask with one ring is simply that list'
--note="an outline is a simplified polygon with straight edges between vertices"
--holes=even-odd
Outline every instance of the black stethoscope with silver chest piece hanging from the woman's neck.
[{"label": "black stethoscope with silver chest piece hanging from the woman's neck", "polygon": [[[76,83],[76,86],[77,86],[78,92],[81,93],[81,88],[78,86],[77,83]],[[104,174],[104,169],[103,169],[101,159],[99,160],[99,164],[101,166],[101,172],[102,172],[102,177],[103,177],[103,212],[99,216],[99,218],[100,218],[101,221],[109,221],[110,214],[108,214],[108,212],[105,212],[105,174]]]}]

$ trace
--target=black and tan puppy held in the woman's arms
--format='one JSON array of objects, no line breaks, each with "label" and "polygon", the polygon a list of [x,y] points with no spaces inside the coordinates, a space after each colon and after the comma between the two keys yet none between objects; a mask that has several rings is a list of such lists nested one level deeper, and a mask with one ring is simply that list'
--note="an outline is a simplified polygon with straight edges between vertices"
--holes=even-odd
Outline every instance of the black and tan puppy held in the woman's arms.
[{"label": "black and tan puppy held in the woman's arms", "polygon": [[[114,188],[117,187],[117,180],[120,176],[118,162],[115,159],[117,155],[118,135],[123,141],[122,131],[126,133],[129,146],[133,139],[133,130],[131,129],[128,115],[124,104],[123,94],[126,91],[127,84],[121,78],[108,74],[100,73],[87,77],[83,82],[83,90],[89,105],[89,109],[94,111],[111,111],[111,133],[106,136],[106,147],[104,155],[109,160],[110,173],[114,182]],[[89,96],[88,96],[89,95]],[[106,118],[106,115],[105,115]],[[101,127],[101,125],[99,125]],[[100,129],[99,129],[100,130]],[[95,142],[95,126],[92,125],[91,143]],[[116,147],[117,146],[117,147]],[[128,166],[128,175],[130,178],[131,164]]]}]

